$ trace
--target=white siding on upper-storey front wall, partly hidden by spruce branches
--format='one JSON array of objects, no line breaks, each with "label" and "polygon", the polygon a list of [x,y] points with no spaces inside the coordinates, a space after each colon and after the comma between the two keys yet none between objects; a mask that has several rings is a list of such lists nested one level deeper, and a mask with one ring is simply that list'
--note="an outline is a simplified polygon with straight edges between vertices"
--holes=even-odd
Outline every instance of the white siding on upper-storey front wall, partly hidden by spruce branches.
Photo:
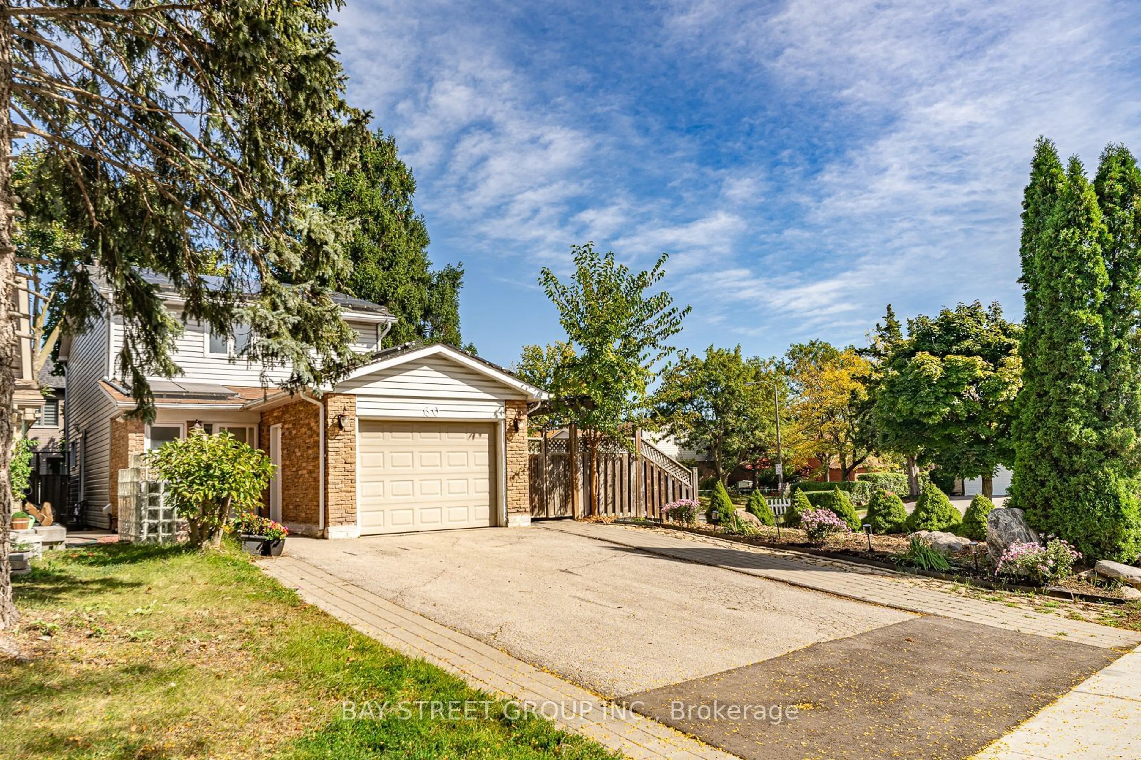
[{"label": "white siding on upper-storey front wall, partly hidden by spruce branches", "polygon": [[[175,312],[175,317],[179,317],[178,312]],[[357,341],[353,343],[353,350],[370,354],[374,352],[377,348],[377,325],[366,322],[348,324],[357,334]],[[122,346],[123,329],[122,319],[115,317],[112,321],[112,354]],[[175,363],[183,370],[183,374],[178,377],[185,381],[199,383],[224,382],[227,385],[244,385],[249,387],[261,384],[261,365],[251,365],[245,359],[230,359],[228,357],[207,353],[207,328],[197,322],[186,325],[183,334],[176,338],[172,358]],[[266,373],[266,378],[270,385],[286,381],[289,376],[290,370],[285,367],[275,367]],[[153,379],[159,378],[155,377]]]}]

